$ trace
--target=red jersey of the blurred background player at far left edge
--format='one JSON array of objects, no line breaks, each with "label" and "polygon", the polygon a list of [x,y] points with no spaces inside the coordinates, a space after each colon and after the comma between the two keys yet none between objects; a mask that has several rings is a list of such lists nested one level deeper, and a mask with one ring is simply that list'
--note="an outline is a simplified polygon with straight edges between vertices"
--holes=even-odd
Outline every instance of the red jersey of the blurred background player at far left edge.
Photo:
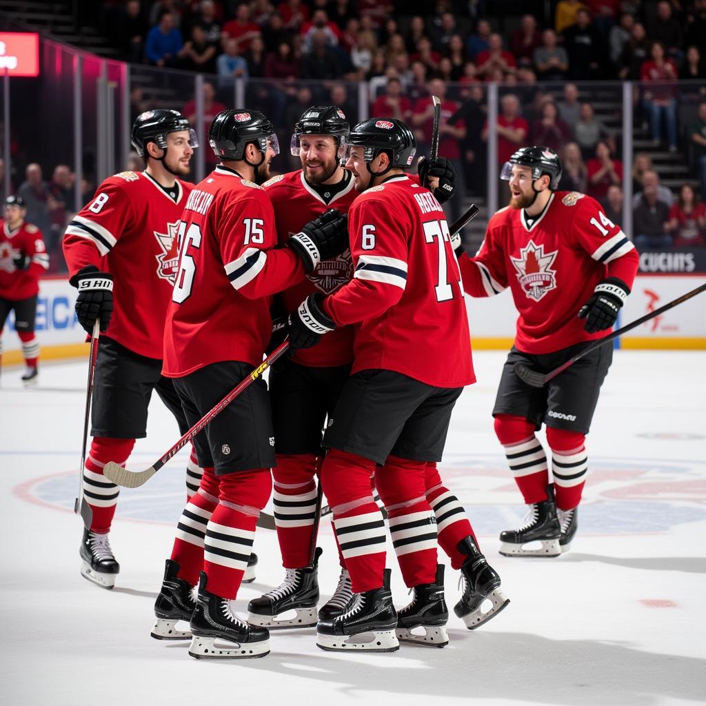
[{"label": "red jersey of the blurred background player at far left edge", "polygon": [[[27,270],[15,267],[18,255],[30,257]],[[23,222],[10,230],[4,222],[0,233],[0,299],[21,301],[34,297],[40,291],[40,276],[48,269],[49,256],[40,229]]]}]

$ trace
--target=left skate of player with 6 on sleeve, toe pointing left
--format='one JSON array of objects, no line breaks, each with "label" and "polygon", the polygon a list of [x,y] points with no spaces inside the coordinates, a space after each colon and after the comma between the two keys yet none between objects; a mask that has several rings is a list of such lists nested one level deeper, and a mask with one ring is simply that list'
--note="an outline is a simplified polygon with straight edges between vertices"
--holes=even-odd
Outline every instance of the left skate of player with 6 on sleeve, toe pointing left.
[{"label": "left skate of player with 6 on sleeve, toe pointing left", "polygon": [[354,593],[348,610],[330,621],[319,621],[316,644],[332,652],[395,652],[397,613],[390,592],[390,569],[385,569],[383,587]]}]

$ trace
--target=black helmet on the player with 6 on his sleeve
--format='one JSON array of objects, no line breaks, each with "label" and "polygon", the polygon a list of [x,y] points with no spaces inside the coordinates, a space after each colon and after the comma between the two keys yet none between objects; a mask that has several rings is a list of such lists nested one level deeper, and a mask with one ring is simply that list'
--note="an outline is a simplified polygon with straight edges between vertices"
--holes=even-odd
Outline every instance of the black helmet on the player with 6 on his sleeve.
[{"label": "black helmet on the player with 6 on his sleeve", "polygon": [[[348,161],[350,148],[355,146],[364,148],[363,158],[368,163],[380,152],[387,152],[390,165],[385,172],[394,167],[409,169],[417,153],[417,140],[414,139],[412,128],[397,118],[370,118],[357,124],[342,145],[339,155],[341,164]],[[370,172],[370,167],[368,171]],[[378,177],[385,172],[375,172],[374,176]]]}]

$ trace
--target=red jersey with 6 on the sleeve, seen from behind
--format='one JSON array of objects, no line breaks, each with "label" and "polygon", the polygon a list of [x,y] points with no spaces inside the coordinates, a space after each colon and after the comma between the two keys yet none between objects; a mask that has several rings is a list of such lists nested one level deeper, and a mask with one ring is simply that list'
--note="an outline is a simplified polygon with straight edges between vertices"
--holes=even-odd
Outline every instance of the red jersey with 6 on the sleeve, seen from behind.
[{"label": "red jersey with 6 on the sleeve, seen from behind", "polygon": [[406,175],[362,193],[348,214],[351,282],[324,300],[356,324],[353,372],[393,370],[427,385],[475,381],[460,271],[433,194]]}]

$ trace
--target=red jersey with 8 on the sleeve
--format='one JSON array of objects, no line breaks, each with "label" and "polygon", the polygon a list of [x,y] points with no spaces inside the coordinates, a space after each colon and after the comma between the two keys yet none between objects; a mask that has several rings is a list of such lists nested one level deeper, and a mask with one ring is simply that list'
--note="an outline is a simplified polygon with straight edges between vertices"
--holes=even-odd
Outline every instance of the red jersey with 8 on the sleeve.
[{"label": "red jersey with 8 on the sleeve", "polygon": [[106,179],[66,228],[73,276],[86,265],[113,275],[114,310],[106,335],[161,359],[164,319],[177,274],[177,227],[192,184],[177,180],[174,201],[147,172]]}]

